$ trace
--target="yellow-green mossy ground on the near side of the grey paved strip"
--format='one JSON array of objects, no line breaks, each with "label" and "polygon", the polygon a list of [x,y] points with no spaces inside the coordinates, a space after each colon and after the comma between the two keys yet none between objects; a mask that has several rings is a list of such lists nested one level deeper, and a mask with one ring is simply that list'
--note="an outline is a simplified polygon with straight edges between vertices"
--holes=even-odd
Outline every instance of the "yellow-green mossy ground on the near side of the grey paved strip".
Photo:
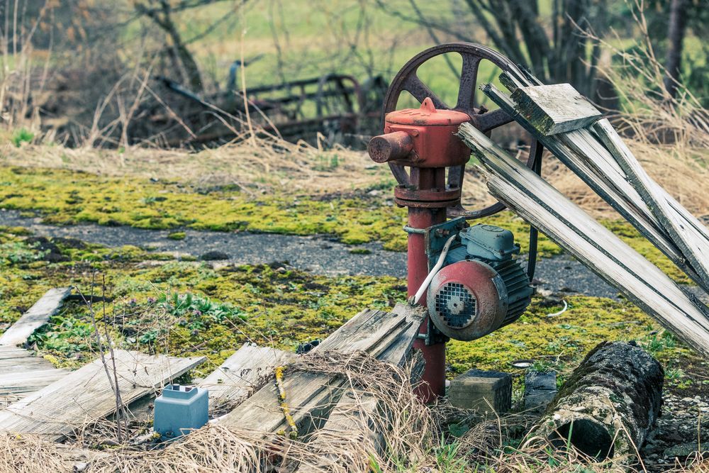
[{"label": "yellow-green mossy ground on the near side of the grey paved strip", "polygon": [[[111,299],[95,301],[93,312],[113,345],[205,355],[209,361],[196,376],[247,341],[294,350],[326,337],[363,308],[386,308],[406,298],[405,282],[393,277],[324,277],[279,263],[215,269],[135,247],[35,238],[21,228],[0,228],[0,266],[0,328],[46,289],[72,284],[86,299],[91,292]],[[703,383],[689,376],[707,370],[703,361],[632,304],[585,296],[568,301],[569,310],[549,318],[559,301],[537,297],[517,323],[472,343],[450,343],[450,375],[471,367],[509,372],[510,362],[529,358],[564,374],[601,340],[640,340],[665,363],[672,386]],[[88,362],[98,346],[89,306],[68,302],[29,344],[62,367]]]}]

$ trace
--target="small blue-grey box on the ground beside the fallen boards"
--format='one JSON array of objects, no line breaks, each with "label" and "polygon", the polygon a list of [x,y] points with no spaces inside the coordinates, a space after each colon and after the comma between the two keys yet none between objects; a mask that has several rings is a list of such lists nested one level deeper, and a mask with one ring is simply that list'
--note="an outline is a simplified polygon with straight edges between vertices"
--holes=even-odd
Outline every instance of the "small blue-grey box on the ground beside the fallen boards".
[{"label": "small blue-grey box on the ground beside the fallen boards", "polygon": [[163,437],[189,433],[209,421],[209,394],[196,386],[168,384],[155,399],[153,429]]}]

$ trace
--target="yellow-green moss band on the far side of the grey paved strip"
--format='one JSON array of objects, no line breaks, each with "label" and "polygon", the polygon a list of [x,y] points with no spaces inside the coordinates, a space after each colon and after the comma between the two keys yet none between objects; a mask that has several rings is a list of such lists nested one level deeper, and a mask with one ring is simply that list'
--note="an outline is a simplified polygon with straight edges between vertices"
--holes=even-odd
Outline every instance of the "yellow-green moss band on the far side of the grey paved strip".
[{"label": "yellow-green moss band on the far side of the grey paved strip", "polygon": [[[381,189],[376,189],[379,187]],[[251,231],[291,235],[330,234],[343,243],[379,240],[387,250],[406,250],[406,210],[396,208],[389,195],[391,182],[350,194],[289,194],[286,191],[253,196],[238,188],[197,187],[185,182],[162,182],[143,177],[101,177],[65,169],[0,167],[0,208],[40,213],[47,223],[81,222],[136,228],[181,228]],[[378,190],[374,194],[372,190]],[[498,213],[486,223],[509,228],[527,251],[527,224],[512,213]],[[605,221],[644,257],[679,282],[688,282],[669,260],[622,221]],[[541,236],[540,255],[562,250]]]}]

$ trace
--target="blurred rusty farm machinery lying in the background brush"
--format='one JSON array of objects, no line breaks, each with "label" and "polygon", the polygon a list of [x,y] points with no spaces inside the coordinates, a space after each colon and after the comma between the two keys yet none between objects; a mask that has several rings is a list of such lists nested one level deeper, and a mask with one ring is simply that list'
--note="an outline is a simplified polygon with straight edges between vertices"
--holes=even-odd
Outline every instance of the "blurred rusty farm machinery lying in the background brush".
[{"label": "blurred rusty farm machinery lying in the background brush", "polygon": [[156,79],[167,91],[164,100],[174,114],[155,104],[151,128],[162,130],[162,140],[172,146],[226,143],[245,133],[250,122],[259,133],[289,141],[361,148],[379,125],[379,104],[386,91],[381,76],[360,83],[352,75],[334,73],[243,91],[235,67],[225,90],[204,96],[167,77]]}]

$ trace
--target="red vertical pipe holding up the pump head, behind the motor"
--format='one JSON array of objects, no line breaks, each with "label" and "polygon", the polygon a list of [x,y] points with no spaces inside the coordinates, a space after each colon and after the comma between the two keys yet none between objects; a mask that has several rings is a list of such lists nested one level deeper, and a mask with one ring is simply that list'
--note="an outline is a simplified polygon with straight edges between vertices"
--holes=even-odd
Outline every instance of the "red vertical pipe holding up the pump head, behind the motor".
[{"label": "red vertical pipe holding up the pump head, behind the motor", "polygon": [[[420,169],[418,188],[422,190],[437,187],[436,169]],[[445,169],[444,169],[445,172]],[[440,174],[440,173],[439,173]],[[445,184],[444,184],[445,185]],[[408,208],[408,226],[411,228],[428,228],[438,223],[445,222],[445,208]],[[418,288],[428,276],[428,257],[426,256],[424,236],[421,233],[408,234],[408,296],[416,294]],[[426,305],[426,298],[420,301]],[[419,329],[420,334],[428,330],[428,316]],[[425,339],[418,338],[413,347],[421,350],[426,362],[423,371],[423,384],[418,388],[417,394],[426,403],[434,401],[438,396],[445,394],[445,344],[436,343],[426,345]]]}]

